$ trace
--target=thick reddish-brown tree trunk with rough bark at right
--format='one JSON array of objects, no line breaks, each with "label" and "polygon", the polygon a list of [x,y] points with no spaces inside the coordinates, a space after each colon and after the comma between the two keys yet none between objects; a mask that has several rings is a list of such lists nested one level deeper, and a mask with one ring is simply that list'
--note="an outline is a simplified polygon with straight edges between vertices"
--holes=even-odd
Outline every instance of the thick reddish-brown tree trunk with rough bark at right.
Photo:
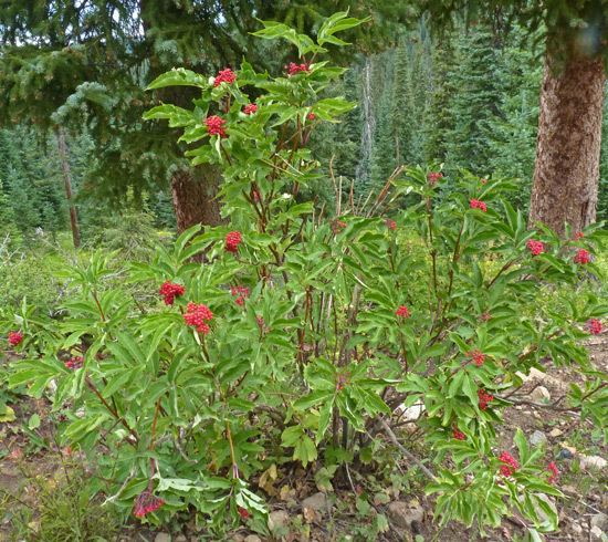
[{"label": "thick reddish-brown tree trunk with rough bark at right", "polygon": [[530,226],[543,222],[559,234],[596,219],[606,73],[601,58],[573,58],[554,70],[547,54],[541,91]]}]

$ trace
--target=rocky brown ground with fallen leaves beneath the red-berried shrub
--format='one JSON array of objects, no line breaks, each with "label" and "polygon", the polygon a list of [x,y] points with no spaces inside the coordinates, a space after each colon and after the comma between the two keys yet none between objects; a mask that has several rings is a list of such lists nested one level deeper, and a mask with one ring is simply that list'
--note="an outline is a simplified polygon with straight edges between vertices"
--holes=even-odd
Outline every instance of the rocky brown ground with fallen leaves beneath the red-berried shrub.
[{"label": "rocky brown ground with fallen leaves beneath the red-berried shrub", "polygon": [[[608,371],[608,333],[590,338],[587,347],[596,367]],[[500,437],[502,448],[512,448],[515,429],[521,428],[533,442],[544,442],[547,462],[554,460],[558,466],[560,476],[556,483],[566,498],[555,504],[559,513],[559,531],[546,534],[546,542],[606,541],[608,448],[602,446],[600,429],[594,427],[589,420],[581,420],[577,413],[549,406],[537,407],[533,404],[543,398],[555,403],[566,394],[569,383],[581,383],[581,375],[576,367],[555,367],[547,363],[546,369],[546,374],[532,373],[525,385],[512,397],[517,397],[514,400],[518,404],[505,413],[505,424],[501,427]],[[558,405],[563,403],[558,402]],[[69,476],[64,475],[69,472],[66,465],[78,465],[82,461],[69,449],[61,450],[49,445],[54,441],[54,437],[53,427],[45,421],[50,408],[48,402],[20,397],[11,406],[15,411],[15,419],[0,423],[0,542],[43,540],[40,535],[40,502],[44,500],[44,494],[53,494],[57,484]],[[28,426],[38,425],[38,417],[41,420],[40,426],[30,429]],[[408,434],[403,432],[401,436],[407,441]],[[407,461],[397,467],[406,472],[412,469]],[[363,469],[361,472],[350,470],[348,479],[347,482],[344,477],[342,484],[334,483],[335,491],[322,493],[318,491],[318,479],[315,482],[315,477],[303,469],[279,471],[273,477],[266,477],[263,487],[269,493],[275,536],[264,539],[243,527],[223,540],[524,540],[525,529],[516,517],[505,521],[501,529],[489,530],[485,536],[475,527],[465,529],[457,523],[449,523],[440,529],[432,520],[432,499],[427,498],[422,491],[424,480],[417,476],[412,476],[407,490],[399,490],[395,484],[387,483],[390,487],[377,491],[381,481],[377,476],[366,475]],[[361,500],[357,499],[363,487],[368,496],[368,489],[376,488],[368,507],[361,505]],[[15,499],[8,499],[8,493]],[[388,524],[380,534],[374,534],[376,531],[373,528],[377,513],[384,513],[388,518]],[[169,534],[141,529],[134,523],[123,528],[117,535],[97,540],[189,542],[209,538],[192,525],[182,525],[181,532]]]}]

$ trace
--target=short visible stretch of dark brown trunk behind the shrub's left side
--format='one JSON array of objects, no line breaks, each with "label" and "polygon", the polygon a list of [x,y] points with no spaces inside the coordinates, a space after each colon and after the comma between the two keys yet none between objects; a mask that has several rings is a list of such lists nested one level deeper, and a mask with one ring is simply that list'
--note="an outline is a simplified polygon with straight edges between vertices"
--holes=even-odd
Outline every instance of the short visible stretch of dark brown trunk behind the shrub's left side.
[{"label": "short visible stretch of dark brown trunk behind the shrub's left side", "polygon": [[171,178],[171,194],[177,218],[177,230],[203,223],[217,226],[222,220],[217,200],[221,174],[212,166],[178,169]]}]

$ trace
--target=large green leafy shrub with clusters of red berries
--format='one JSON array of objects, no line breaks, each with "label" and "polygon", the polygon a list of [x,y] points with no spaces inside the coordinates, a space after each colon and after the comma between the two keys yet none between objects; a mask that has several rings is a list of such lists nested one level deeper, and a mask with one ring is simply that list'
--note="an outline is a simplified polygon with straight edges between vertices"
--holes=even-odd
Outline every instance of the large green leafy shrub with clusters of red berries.
[{"label": "large green leafy shrub with clusters of red berries", "polygon": [[[153,82],[199,90],[192,110],[163,104],[146,118],[181,128],[193,165],[221,168],[230,223],[185,231],[149,264],[119,269],[96,253],[64,275],[62,320],[23,304],[2,324],[25,356],[10,385],[40,397],[54,383],[54,408],[69,407],[62,441],[96,462],[92,483],[125,515],[160,523],[190,511],[217,533],[238,522],[264,532],[261,472],[371,457],[394,413],[421,405],[441,522],[483,531],[517,510],[531,529],[556,528],[556,466],[521,431],[499,449],[496,431],[518,372],[546,356],[588,367],[579,341],[601,330],[606,306],[593,292],[559,311],[537,301],[599,275],[601,231],[527,230],[505,200],[513,184],[468,173],[448,183],[437,167],[398,169],[361,212],[324,219],[297,201],[300,187],[325,180],[311,134],[355,107],[322,97],[344,73],[323,55],[360,23],[337,13],[316,41],[264,23],[260,38],[297,50],[275,77],[243,62]],[[576,388],[573,408],[605,424],[606,394],[590,392]]]}]

